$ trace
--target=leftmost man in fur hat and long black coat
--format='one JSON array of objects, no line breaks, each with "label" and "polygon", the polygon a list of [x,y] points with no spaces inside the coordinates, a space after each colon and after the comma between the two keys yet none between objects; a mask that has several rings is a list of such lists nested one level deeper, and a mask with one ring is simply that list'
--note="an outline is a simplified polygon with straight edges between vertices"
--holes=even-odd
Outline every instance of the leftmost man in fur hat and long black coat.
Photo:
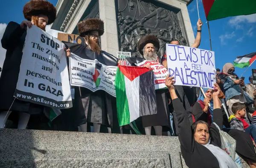
[{"label": "leftmost man in fur hat and long black coat", "polygon": [[31,114],[43,114],[45,106],[20,101],[14,98],[19,76],[22,49],[26,37],[26,28],[36,25],[45,30],[46,25],[54,22],[56,8],[46,0],[31,0],[23,7],[26,20],[20,24],[9,22],[1,40],[6,51],[6,59],[0,77],[0,128],[4,128],[11,112],[19,116],[18,129],[26,129]]}]

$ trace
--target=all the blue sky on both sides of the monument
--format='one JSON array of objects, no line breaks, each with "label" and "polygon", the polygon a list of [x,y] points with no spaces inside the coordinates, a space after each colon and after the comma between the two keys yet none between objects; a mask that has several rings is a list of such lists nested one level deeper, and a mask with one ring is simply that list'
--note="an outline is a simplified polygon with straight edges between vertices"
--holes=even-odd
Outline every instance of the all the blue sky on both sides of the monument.
[{"label": "all the blue sky on both sides of the monument", "polygon": [[[15,3],[14,3],[15,2]],[[6,25],[10,21],[21,23],[24,20],[23,6],[29,0],[0,0],[0,39],[2,39]],[[56,6],[58,0],[49,0]],[[204,14],[202,0],[198,0],[199,15],[203,24],[201,45],[199,48],[210,50],[209,31],[207,20]],[[194,34],[196,35],[196,22],[198,21],[198,11],[196,0],[188,6],[189,17],[192,23]],[[3,17],[4,16],[4,17]],[[236,56],[256,52],[256,14],[247,16],[227,17],[224,19],[213,20],[209,22],[212,50],[215,52],[215,67],[220,68],[227,62],[233,62]],[[5,59],[5,49],[0,45],[0,67],[3,67]],[[245,83],[248,83],[251,69],[256,69],[254,62],[244,73]],[[236,67],[236,74],[241,76],[246,68],[240,69]]]}]

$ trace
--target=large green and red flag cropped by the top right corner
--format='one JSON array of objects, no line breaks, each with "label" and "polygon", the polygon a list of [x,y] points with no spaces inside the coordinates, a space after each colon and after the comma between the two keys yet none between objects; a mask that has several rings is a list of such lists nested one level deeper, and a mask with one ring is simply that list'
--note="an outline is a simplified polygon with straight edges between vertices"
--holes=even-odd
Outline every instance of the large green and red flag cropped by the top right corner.
[{"label": "large green and red flag cropped by the top right corner", "polygon": [[256,13],[256,0],[203,0],[207,20]]}]

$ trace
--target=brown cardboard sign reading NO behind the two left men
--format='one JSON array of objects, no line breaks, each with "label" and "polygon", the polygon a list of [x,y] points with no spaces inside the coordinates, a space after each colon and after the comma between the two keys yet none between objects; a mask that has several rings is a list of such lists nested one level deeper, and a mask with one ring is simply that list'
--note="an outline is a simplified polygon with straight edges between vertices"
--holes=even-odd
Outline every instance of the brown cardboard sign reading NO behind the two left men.
[{"label": "brown cardboard sign reading NO behind the two left men", "polygon": [[85,43],[85,38],[76,34],[58,33],[58,40],[60,40],[61,42],[73,42],[81,45],[84,45]]}]

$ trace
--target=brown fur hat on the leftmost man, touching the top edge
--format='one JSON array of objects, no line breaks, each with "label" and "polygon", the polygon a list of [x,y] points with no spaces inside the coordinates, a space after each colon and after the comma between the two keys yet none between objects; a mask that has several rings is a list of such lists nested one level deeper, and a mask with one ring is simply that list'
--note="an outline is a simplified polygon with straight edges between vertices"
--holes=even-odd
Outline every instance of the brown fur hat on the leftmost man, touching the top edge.
[{"label": "brown fur hat on the leftmost man, touching the top edge", "polygon": [[44,14],[48,17],[47,25],[54,22],[56,19],[56,8],[47,0],[30,0],[23,7],[23,14],[26,20],[31,21],[32,16]]}]

